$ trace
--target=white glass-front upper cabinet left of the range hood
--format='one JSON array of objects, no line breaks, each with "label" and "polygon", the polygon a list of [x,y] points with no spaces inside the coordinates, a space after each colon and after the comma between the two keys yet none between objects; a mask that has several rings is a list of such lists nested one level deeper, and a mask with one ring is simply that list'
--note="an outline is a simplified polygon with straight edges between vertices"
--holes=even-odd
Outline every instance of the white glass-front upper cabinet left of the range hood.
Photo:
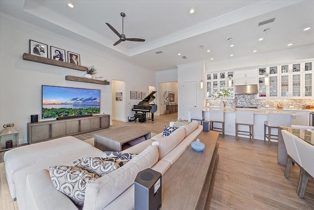
[{"label": "white glass-front upper cabinet left of the range hood", "polygon": [[211,98],[213,91],[220,92],[223,89],[231,91],[234,96],[234,71],[221,71],[206,74],[206,97]]}]

